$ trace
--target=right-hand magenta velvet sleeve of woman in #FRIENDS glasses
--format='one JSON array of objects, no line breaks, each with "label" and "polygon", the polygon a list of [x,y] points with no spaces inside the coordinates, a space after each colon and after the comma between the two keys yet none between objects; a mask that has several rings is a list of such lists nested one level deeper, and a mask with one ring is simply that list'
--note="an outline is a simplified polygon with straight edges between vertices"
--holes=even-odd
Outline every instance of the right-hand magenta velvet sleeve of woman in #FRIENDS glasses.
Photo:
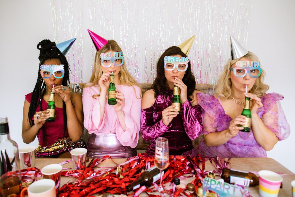
[{"label": "right-hand magenta velvet sleeve of woman in #FRIENDS glasses", "polygon": [[186,100],[181,105],[181,115],[186,134],[191,140],[196,139],[203,130],[201,106],[191,106],[191,102]]}]

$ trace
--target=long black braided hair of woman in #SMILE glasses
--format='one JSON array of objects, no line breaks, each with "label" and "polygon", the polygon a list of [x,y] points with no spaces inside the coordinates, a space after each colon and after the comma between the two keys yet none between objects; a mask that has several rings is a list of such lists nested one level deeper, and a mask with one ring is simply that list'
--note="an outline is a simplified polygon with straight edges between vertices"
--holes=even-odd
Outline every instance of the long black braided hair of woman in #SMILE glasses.
[{"label": "long black braided hair of woman in #SMILE glasses", "polygon": [[[65,69],[65,75],[63,77],[63,82],[62,82],[63,86],[68,86],[68,84],[70,83],[69,71],[71,71],[69,68],[67,59],[65,58],[63,53],[61,53],[58,50],[58,48],[55,46],[55,42],[51,42],[50,40],[42,40],[37,45],[37,48],[40,50],[40,55],[39,55],[40,64],[38,69],[37,82],[33,90],[31,104],[30,104],[29,113],[28,113],[28,120],[31,126],[35,124],[33,120],[33,116],[36,113],[37,106],[40,105],[40,111],[43,110],[42,99],[46,92],[46,84],[40,74],[40,66],[44,64],[46,60],[59,59],[61,64],[64,65],[64,69]],[[63,123],[64,123],[63,135],[65,136],[65,130],[67,128],[67,110],[66,110],[64,101],[63,101]],[[44,134],[44,131],[43,131],[43,134]]]}]

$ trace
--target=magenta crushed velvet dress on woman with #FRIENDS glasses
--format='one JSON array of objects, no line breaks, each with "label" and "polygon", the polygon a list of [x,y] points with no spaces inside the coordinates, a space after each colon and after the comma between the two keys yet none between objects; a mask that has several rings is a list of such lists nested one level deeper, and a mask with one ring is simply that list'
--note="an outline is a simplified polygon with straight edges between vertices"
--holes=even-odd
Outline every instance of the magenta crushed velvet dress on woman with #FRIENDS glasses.
[{"label": "magenta crushed velvet dress on woman with #FRIENDS glasses", "polygon": [[169,155],[181,155],[194,146],[191,140],[196,139],[202,131],[202,109],[200,105],[191,106],[187,100],[181,105],[181,114],[173,118],[168,126],[162,122],[162,111],[172,105],[173,90],[168,96],[158,95],[155,103],[141,110],[140,133],[150,144],[146,151],[150,156],[155,155],[155,144],[158,137],[168,139]]}]

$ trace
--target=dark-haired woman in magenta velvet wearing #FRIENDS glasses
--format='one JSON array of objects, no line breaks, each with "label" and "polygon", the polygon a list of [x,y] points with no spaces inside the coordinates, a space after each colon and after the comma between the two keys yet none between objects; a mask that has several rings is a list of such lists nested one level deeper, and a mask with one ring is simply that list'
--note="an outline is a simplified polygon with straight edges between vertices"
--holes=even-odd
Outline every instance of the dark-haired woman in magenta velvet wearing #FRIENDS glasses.
[{"label": "dark-haired woman in magenta velvet wearing #FRIENDS glasses", "polygon": [[[163,61],[164,60],[164,61]],[[181,112],[172,104],[174,85],[179,88]],[[157,76],[152,89],[145,92],[141,103],[142,138],[150,140],[146,153],[155,154],[156,138],[169,141],[169,154],[181,155],[193,148],[192,141],[202,131],[202,110],[196,100],[195,77],[191,63],[181,48],[172,46],[157,63]]]}]

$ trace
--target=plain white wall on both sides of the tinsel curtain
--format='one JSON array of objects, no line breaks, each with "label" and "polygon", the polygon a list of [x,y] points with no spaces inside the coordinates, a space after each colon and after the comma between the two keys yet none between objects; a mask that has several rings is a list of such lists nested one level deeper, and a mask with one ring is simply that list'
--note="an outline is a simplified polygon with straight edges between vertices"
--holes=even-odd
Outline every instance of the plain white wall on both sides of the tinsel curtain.
[{"label": "plain white wall on both sides of the tinsel curtain", "polygon": [[[12,139],[19,147],[22,142],[22,112],[24,95],[32,92],[36,83],[39,64],[37,43],[42,39],[53,38],[50,1],[0,1],[0,116],[9,118]],[[254,1],[249,21],[248,45],[245,48],[260,58],[266,70],[266,83],[269,92],[285,96],[281,101],[291,131],[295,129],[294,120],[294,69],[291,57],[295,50],[295,1]],[[88,17],[87,7],[83,7]],[[87,19],[84,19],[89,24]],[[84,24],[84,27],[88,25]],[[90,65],[90,39],[84,39],[84,69]],[[90,73],[83,70],[83,81],[89,80]],[[268,157],[276,159],[292,172],[295,172],[294,143],[295,134],[278,142]],[[37,140],[31,143],[37,146]]]}]

